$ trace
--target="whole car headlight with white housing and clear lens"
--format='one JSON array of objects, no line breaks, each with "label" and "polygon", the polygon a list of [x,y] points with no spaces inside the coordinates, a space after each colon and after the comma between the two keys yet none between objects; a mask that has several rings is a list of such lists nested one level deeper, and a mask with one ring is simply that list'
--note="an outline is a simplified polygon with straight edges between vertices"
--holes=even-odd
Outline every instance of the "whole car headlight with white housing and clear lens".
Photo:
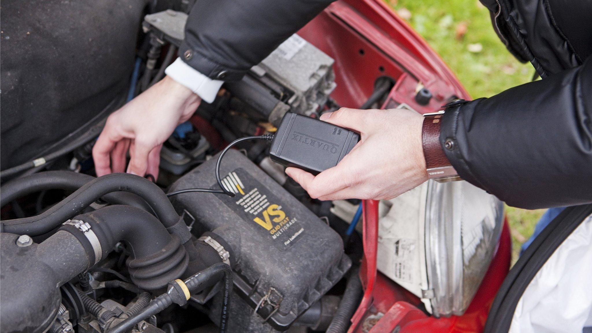
[{"label": "whole car headlight with white housing and clear lens", "polygon": [[435,316],[462,315],[495,254],[503,203],[466,181],[427,181],[379,205],[378,270]]}]

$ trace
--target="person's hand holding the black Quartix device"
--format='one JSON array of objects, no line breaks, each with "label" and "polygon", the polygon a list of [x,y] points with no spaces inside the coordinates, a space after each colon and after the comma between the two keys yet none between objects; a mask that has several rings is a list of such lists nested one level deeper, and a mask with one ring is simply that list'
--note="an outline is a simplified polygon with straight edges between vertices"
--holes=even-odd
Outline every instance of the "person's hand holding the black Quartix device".
[{"label": "person's hand holding the black Quartix device", "polygon": [[427,181],[419,113],[341,108],[320,119],[359,132],[361,139],[336,167],[316,177],[286,169],[312,198],[391,199]]}]

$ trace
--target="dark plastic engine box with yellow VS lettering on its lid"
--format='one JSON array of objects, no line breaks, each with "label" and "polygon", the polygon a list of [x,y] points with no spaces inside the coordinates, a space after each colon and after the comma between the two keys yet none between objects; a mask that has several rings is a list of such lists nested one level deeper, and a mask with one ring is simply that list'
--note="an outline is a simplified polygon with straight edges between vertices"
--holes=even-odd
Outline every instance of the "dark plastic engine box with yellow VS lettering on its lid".
[{"label": "dark plastic engine box with yellow VS lettering on its lid", "polygon": [[[184,175],[171,191],[218,188],[216,161]],[[237,257],[234,293],[242,299],[232,297],[229,331],[284,331],[351,266],[342,239],[242,153],[227,152],[220,175],[236,197],[184,193],[173,204],[195,217],[195,235],[217,233]]]}]

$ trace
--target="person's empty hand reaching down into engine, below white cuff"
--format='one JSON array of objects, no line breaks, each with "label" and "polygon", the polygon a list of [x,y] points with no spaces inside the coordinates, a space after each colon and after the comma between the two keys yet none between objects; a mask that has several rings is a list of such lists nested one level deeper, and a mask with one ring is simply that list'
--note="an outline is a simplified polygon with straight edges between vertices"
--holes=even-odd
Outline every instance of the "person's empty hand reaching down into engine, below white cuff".
[{"label": "person's empty hand reaching down into engine, below white cuff", "polygon": [[165,76],[112,113],[92,149],[96,175],[124,172],[129,149],[127,172],[151,174],[156,179],[162,143],[191,117],[200,102],[198,95]]}]

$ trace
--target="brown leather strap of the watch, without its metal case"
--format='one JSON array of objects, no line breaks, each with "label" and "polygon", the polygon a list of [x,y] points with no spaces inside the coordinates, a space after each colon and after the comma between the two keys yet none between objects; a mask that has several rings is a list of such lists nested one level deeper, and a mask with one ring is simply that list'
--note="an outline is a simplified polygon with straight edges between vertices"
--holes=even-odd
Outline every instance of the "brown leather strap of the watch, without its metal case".
[{"label": "brown leather strap of the watch, without its metal case", "polygon": [[442,114],[425,116],[423,118],[422,144],[427,169],[451,165],[440,145],[441,124]]}]

